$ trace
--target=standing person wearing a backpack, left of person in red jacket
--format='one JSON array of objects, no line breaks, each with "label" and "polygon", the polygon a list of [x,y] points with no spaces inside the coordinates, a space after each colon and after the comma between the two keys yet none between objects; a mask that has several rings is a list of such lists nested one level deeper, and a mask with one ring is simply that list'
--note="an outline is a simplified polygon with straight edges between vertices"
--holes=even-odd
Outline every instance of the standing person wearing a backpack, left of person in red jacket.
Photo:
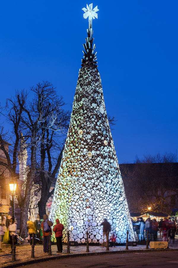
[{"label": "standing person wearing a backpack, left of person in red jacket", "polygon": [[43,252],[48,253],[49,249],[49,232],[51,233],[51,226],[53,225],[52,221],[48,220],[48,216],[46,214],[43,215],[43,221],[41,224],[42,232],[43,232]]}]

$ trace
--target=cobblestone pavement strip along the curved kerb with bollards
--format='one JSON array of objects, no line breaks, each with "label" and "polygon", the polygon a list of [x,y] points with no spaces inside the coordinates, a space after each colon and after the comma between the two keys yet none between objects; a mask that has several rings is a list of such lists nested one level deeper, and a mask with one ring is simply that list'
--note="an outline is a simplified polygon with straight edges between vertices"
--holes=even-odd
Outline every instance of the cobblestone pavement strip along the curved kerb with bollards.
[{"label": "cobblestone pavement strip along the curved kerb with bollards", "polygon": [[[57,246],[52,245],[52,256],[62,256],[66,255],[67,257],[67,246],[63,246],[63,253],[56,253]],[[174,245],[174,247],[178,250],[177,243]],[[16,261],[12,262],[12,254],[10,253],[11,247],[10,245],[3,245],[2,249],[4,252],[0,253],[0,267],[5,267],[8,265],[16,264],[16,263],[23,263],[33,260],[31,258],[31,246],[29,243],[24,243],[24,245],[17,245],[16,246]],[[129,250],[145,250],[146,245],[137,245],[137,247],[129,247]],[[106,252],[106,247],[101,246],[90,246],[89,247],[90,252]],[[116,246],[116,247],[109,247],[109,251],[122,251],[125,250],[125,246]],[[78,255],[82,253],[86,253],[86,246],[78,246],[78,247],[70,247],[70,253],[71,255]],[[43,252],[43,246],[42,245],[36,245],[35,246],[35,259],[48,259],[51,256],[49,256],[47,253]]]}]

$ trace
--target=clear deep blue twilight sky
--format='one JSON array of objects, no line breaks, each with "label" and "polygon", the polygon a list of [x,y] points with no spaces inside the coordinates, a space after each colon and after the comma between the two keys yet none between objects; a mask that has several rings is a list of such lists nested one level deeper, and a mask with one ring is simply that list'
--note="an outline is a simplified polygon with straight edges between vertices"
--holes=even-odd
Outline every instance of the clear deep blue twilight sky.
[{"label": "clear deep blue twilight sky", "polygon": [[[73,101],[88,19],[86,1],[0,2],[1,104],[15,89],[53,83]],[[90,4],[90,2],[88,2]],[[178,1],[97,0],[98,70],[119,162],[178,149]]]}]

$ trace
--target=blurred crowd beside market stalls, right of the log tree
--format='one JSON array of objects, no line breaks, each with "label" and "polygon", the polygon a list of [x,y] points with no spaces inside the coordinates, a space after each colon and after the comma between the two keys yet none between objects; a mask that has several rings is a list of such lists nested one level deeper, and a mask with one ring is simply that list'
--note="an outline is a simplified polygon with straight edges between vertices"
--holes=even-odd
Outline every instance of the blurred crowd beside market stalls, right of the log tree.
[{"label": "blurred crowd beside market stalls, right of the log tree", "polygon": [[150,217],[144,221],[142,217],[138,219],[138,221],[132,221],[134,231],[138,235],[138,240],[144,240],[144,231],[145,236],[147,239],[147,231],[148,231],[148,239],[151,240],[153,238],[154,241],[157,241],[158,231],[159,231],[159,238],[162,238],[163,241],[167,239],[167,231],[169,237],[169,243],[174,244],[175,234],[177,232],[177,225],[176,221],[171,221],[169,219],[161,219],[157,222],[156,219],[150,219]]}]

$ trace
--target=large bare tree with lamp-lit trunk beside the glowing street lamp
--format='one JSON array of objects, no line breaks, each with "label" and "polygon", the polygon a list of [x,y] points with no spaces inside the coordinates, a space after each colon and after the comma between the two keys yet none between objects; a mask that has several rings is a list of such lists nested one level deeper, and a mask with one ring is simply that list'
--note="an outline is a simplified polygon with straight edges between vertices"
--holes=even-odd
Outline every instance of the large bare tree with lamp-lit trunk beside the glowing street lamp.
[{"label": "large bare tree with lamp-lit trunk beside the glowing street lamp", "polygon": [[[43,145],[50,146],[49,133],[58,132],[65,135],[66,131],[66,126],[63,123],[63,117],[65,117],[63,99],[62,97],[58,98],[53,85],[47,81],[38,83],[31,88],[31,92],[34,94],[31,101],[27,99],[28,95],[24,91],[16,92],[14,98],[7,99],[5,115],[12,126],[12,131],[7,135],[3,134],[2,130],[0,134],[0,149],[7,158],[7,163],[0,162],[0,165],[4,165],[9,169],[12,180],[17,181],[17,157],[21,132],[30,156],[28,157],[28,173],[24,196],[20,192],[19,185],[17,185],[18,203],[21,209],[20,235],[22,237],[27,234],[26,221],[28,220],[30,194],[37,176],[39,162],[41,166],[44,166],[42,169],[45,171],[45,165],[44,162],[41,162],[40,156],[42,147]],[[66,114],[68,113],[66,112]],[[4,146],[5,140],[11,141],[11,144],[13,144],[12,151],[7,152]]]}]

